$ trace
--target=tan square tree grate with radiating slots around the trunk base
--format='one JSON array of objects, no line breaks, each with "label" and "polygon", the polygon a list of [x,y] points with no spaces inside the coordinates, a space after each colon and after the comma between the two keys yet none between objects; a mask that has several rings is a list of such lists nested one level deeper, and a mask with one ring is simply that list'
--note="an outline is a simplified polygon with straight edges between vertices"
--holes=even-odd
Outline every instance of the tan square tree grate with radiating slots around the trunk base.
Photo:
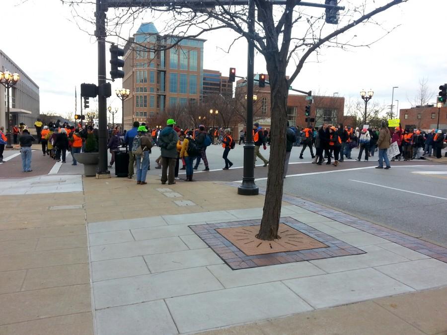
[{"label": "tan square tree grate with radiating slots around the trunk base", "polygon": [[233,245],[239,248],[247,256],[283,253],[307,249],[327,248],[328,246],[314,238],[301,233],[287,224],[280,223],[276,241],[262,241],[255,237],[260,225],[241,226],[216,229]]}]

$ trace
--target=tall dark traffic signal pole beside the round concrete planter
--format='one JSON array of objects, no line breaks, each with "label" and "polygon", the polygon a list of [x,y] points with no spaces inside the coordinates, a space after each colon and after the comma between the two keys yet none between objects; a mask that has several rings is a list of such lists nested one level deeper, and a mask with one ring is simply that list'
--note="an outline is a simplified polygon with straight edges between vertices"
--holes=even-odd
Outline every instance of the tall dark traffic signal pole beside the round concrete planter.
[{"label": "tall dark traffic signal pole beside the round concrete planter", "polygon": [[[106,11],[107,5],[101,5],[101,0],[96,0],[95,36],[98,39],[98,88],[106,83]],[[107,169],[107,97],[104,95],[104,91],[100,89],[98,89],[98,128],[99,163],[96,178],[110,178],[110,171]]]}]

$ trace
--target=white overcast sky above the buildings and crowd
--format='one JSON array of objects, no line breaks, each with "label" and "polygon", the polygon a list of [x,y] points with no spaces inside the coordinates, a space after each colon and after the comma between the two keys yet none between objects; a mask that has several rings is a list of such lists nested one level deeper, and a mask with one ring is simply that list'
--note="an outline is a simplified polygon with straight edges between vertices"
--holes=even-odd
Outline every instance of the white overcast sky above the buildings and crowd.
[{"label": "white overcast sky above the buildings and crowd", "polygon": [[[53,111],[65,115],[74,111],[75,86],[79,111],[80,83],[97,83],[95,39],[78,28],[70,7],[59,0],[21,2],[1,1],[3,27],[9,28],[3,29],[0,35],[0,48],[39,85],[41,113]],[[339,4],[343,5],[343,2],[346,1],[339,1]],[[375,0],[375,3],[381,2],[383,0]],[[390,105],[392,87],[398,86],[394,90],[394,100],[399,100],[399,109],[410,107],[408,100],[417,95],[419,81],[423,77],[428,79],[429,87],[437,94],[439,85],[447,82],[444,60],[447,54],[446,12],[446,0],[409,0],[379,14],[376,19],[383,27],[399,26],[370,48],[324,50],[318,63],[304,66],[293,87],[305,91],[312,89],[325,95],[338,92],[346,100],[358,99],[362,89],[371,88],[374,100]],[[152,20],[149,15],[142,18],[142,21]],[[138,27],[139,23],[135,25]],[[155,21],[161,31],[163,23],[158,23]],[[92,26],[83,27],[90,33],[94,30]],[[355,33],[357,41],[363,43],[369,43],[382,34],[373,26],[354,29],[352,34]],[[130,33],[135,33],[135,30]],[[129,32],[123,32],[123,35],[127,37]],[[228,68],[236,67],[238,75],[246,75],[246,42],[236,43],[229,54],[220,49],[226,49],[233,36],[228,30],[202,36],[207,39],[204,68],[228,75]],[[106,55],[108,61],[109,53]],[[263,57],[257,55],[255,73],[265,72]],[[288,74],[292,74],[292,69]],[[121,80],[112,83],[113,90],[117,87],[121,87]],[[435,97],[431,99],[435,100]],[[121,108],[121,101],[115,96],[108,100],[108,104]]]}]

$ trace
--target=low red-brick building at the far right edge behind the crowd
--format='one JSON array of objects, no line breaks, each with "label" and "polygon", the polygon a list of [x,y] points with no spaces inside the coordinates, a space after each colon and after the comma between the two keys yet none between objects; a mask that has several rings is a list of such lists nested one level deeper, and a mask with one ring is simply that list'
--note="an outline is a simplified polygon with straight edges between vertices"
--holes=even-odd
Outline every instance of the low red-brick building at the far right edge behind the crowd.
[{"label": "low red-brick building at the far right edge behind the crowd", "polygon": [[436,129],[438,124],[439,111],[439,129],[447,130],[447,107],[415,107],[401,109],[399,119],[402,127],[418,128],[422,130]]}]

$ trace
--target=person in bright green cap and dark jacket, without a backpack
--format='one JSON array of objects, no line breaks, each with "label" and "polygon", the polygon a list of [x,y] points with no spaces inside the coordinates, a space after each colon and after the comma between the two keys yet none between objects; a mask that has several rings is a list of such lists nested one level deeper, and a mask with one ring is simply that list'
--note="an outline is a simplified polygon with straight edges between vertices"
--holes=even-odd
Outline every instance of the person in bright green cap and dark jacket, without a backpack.
[{"label": "person in bright green cap and dark jacket, without a backpack", "polygon": [[[174,169],[177,161],[178,135],[174,130],[175,121],[168,119],[166,127],[160,133],[158,145],[161,148],[161,184],[175,184]],[[169,174],[168,174],[169,169]]]}]

